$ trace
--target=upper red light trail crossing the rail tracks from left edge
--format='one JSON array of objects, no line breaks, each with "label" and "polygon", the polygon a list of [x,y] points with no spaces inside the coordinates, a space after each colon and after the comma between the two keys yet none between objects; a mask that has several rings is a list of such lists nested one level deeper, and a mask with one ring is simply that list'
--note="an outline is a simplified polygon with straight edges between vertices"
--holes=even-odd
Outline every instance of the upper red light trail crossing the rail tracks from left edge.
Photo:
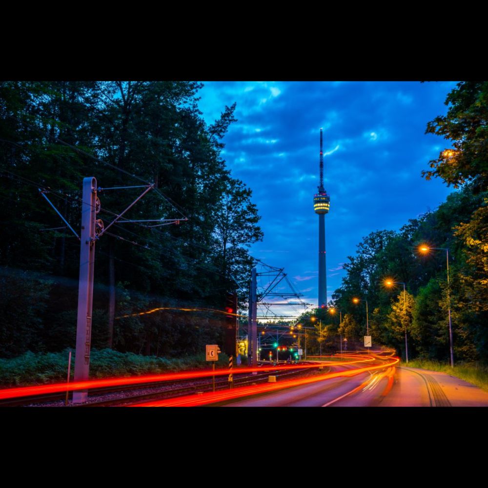
[{"label": "upper red light trail crossing the rail tracks from left edge", "polygon": [[[349,365],[355,363],[364,363],[366,361],[374,361],[372,356],[364,356],[366,359],[356,361],[345,361],[340,363],[341,365]],[[256,367],[243,367],[235,368],[234,374],[241,373],[252,373],[254,371],[267,372],[267,371],[278,371],[284,369],[306,369],[306,368],[318,368],[327,364],[327,362],[317,363],[313,365],[287,365],[287,366],[264,366],[260,368]],[[334,364],[339,364],[334,362]],[[144,376],[133,376],[131,378],[105,378],[100,380],[87,380],[87,381],[77,381],[71,383],[55,383],[52,385],[39,385],[39,386],[21,386],[19,388],[5,388],[0,390],[0,400],[6,400],[8,398],[19,398],[24,396],[35,396],[35,395],[47,395],[49,393],[59,393],[61,391],[74,391],[74,390],[86,390],[91,388],[105,388],[110,386],[126,386],[126,385],[139,385],[144,383],[158,383],[167,381],[183,381],[191,380],[196,378],[208,378],[210,376],[224,376],[228,375],[229,370],[225,367],[223,369],[216,369],[212,371],[211,369],[204,371],[184,371],[181,373],[163,373],[163,374],[153,374]]]}]

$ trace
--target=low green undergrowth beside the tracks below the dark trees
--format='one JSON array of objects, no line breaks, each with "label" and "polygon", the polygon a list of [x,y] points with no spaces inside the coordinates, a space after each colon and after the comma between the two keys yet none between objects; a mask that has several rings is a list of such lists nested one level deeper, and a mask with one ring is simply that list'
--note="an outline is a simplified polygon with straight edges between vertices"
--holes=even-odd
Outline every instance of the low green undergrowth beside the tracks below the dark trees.
[{"label": "low green undergrowth beside the tracks below the dark trees", "polygon": [[[219,356],[217,367],[226,367],[228,358]],[[74,377],[74,354],[71,358],[71,380]],[[142,356],[131,352],[122,353],[112,349],[93,350],[90,355],[90,378],[140,376],[143,374],[183,371],[208,368],[205,354],[179,358]],[[0,387],[31,386],[66,381],[68,352],[26,352],[12,359],[0,358]]]}]

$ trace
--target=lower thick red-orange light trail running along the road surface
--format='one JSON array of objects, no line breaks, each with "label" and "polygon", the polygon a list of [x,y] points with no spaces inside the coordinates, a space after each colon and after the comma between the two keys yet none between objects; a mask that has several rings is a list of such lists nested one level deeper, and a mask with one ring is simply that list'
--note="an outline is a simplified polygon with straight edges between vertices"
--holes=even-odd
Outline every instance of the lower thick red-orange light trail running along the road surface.
[{"label": "lower thick red-orange light trail running along the road surface", "polygon": [[400,358],[391,358],[391,362],[388,365],[380,366],[366,366],[361,368],[352,369],[349,371],[339,371],[335,373],[326,373],[319,377],[314,376],[312,378],[302,378],[297,380],[287,380],[280,383],[266,383],[265,385],[244,386],[242,388],[236,388],[233,390],[225,390],[222,392],[209,392],[199,395],[186,395],[179,398],[170,398],[167,400],[160,400],[156,402],[147,402],[132,407],[198,407],[200,405],[208,405],[212,403],[220,403],[235,398],[241,398],[248,395],[256,395],[259,393],[268,393],[270,391],[276,391],[283,388],[290,388],[293,386],[307,385],[315,383],[317,381],[324,381],[331,378],[338,378],[341,376],[355,376],[366,371],[373,371],[376,369],[383,369],[386,366],[393,366],[400,361]]}]

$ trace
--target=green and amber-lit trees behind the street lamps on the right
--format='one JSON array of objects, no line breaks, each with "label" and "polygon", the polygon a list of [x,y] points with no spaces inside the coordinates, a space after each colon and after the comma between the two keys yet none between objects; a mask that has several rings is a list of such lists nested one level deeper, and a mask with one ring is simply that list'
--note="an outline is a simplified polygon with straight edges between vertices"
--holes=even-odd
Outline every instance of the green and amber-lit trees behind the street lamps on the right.
[{"label": "green and amber-lit trees behind the street lamps on the right", "polygon": [[[407,329],[409,359],[447,362],[450,306],[454,360],[488,361],[488,83],[461,82],[446,104],[447,115],[429,122],[426,132],[443,135],[452,147],[422,176],[441,177],[458,191],[398,232],[372,232],[348,257],[330,304],[342,310],[342,327],[321,312],[330,345],[339,333],[362,345],[366,304],[354,304],[358,298],[368,303],[373,345],[395,347],[405,358]],[[388,286],[388,279],[398,284]]]}]

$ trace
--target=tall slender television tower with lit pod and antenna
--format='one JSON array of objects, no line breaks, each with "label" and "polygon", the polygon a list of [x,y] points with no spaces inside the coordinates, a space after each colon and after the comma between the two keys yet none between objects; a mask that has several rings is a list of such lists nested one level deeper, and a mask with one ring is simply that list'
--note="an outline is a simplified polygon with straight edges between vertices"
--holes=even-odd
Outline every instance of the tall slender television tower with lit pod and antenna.
[{"label": "tall slender television tower with lit pod and antenna", "polygon": [[327,278],[325,275],[325,214],[329,212],[330,197],[324,188],[324,151],[320,129],[320,185],[313,196],[313,209],[319,214],[319,307],[327,305]]}]

